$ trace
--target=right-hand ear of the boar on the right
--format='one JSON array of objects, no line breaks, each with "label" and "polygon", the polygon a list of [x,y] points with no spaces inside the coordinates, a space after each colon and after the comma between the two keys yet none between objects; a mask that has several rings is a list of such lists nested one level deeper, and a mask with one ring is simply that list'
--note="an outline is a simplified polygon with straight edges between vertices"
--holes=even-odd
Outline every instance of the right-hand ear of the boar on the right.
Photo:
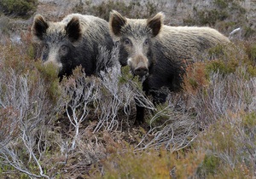
[{"label": "right-hand ear of the boar on the right", "polygon": [[153,18],[147,20],[147,25],[152,29],[153,36],[156,36],[163,25],[165,15],[163,13],[156,14]]}]

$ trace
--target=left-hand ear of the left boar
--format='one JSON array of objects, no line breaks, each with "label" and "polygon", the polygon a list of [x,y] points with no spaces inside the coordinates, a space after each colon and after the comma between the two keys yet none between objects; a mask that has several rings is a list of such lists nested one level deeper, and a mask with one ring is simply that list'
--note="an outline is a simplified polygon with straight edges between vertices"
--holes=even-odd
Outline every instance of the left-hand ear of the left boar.
[{"label": "left-hand ear of the left boar", "polygon": [[34,17],[33,25],[32,25],[32,34],[36,38],[36,40],[43,40],[44,34],[48,29],[49,24],[44,20],[44,17],[40,14],[37,14]]}]

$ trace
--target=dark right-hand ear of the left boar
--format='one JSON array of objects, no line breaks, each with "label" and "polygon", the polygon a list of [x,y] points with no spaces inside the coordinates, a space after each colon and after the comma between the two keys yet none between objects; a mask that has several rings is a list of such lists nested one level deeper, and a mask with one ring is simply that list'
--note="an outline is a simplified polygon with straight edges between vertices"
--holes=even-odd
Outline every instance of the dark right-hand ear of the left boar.
[{"label": "dark right-hand ear of the left boar", "polygon": [[78,17],[73,17],[65,27],[67,32],[67,37],[70,39],[71,42],[75,42],[82,37],[81,28],[79,23]]}]

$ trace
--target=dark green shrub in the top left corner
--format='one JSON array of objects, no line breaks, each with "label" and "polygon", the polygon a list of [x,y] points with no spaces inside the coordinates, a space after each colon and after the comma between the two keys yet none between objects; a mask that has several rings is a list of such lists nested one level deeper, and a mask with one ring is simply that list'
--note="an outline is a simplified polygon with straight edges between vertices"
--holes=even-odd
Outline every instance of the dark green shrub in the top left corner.
[{"label": "dark green shrub in the top left corner", "polygon": [[38,0],[2,0],[0,6],[4,14],[15,14],[25,16],[35,12]]}]

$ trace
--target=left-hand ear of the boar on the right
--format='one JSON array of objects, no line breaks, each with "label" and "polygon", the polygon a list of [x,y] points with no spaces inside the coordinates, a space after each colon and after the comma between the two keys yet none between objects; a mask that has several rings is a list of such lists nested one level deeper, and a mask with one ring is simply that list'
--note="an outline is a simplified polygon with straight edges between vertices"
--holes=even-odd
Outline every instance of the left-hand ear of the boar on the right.
[{"label": "left-hand ear of the boar on the right", "polygon": [[127,20],[119,12],[112,10],[109,18],[110,32],[115,36],[120,36],[121,28],[125,26]]}]

